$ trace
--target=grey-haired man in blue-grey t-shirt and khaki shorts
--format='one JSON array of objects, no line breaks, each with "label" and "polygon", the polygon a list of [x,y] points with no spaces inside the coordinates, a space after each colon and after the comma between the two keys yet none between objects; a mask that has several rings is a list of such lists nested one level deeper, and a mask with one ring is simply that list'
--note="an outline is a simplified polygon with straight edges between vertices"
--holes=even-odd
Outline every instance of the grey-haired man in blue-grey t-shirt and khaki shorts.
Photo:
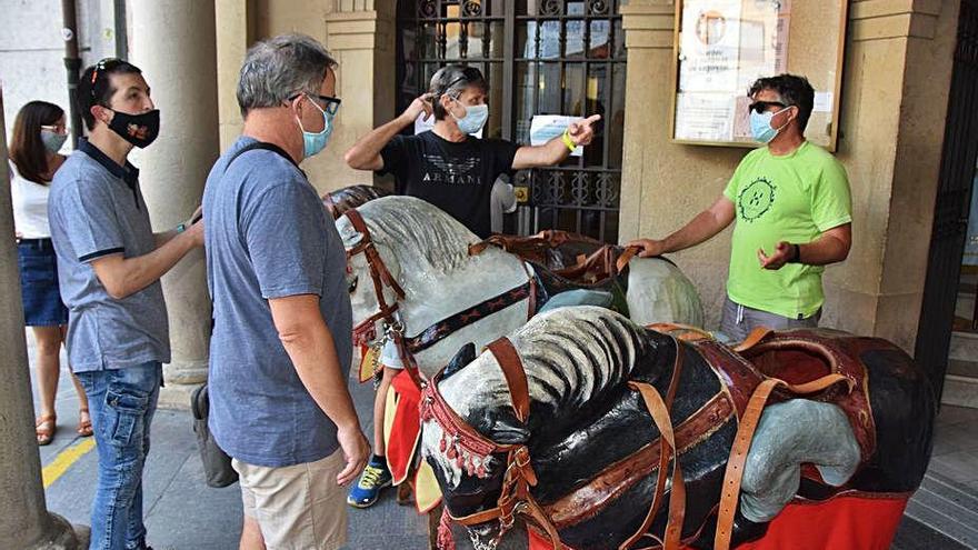
[{"label": "grey-haired man in blue-grey t-shirt and khaki shorts", "polygon": [[253,46],[238,84],[243,136],[204,190],[209,426],[240,474],[242,549],[343,546],[340,486],[369,456],[347,390],[346,253],[298,167],[332,131],[333,67],[309,37]]}]

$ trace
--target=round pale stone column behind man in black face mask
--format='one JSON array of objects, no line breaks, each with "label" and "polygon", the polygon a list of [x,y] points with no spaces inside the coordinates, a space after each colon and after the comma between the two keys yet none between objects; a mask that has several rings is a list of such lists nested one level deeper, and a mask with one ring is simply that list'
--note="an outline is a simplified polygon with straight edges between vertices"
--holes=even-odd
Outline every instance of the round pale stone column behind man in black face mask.
[{"label": "round pale stone column behind man in black face mask", "polygon": [[[219,154],[214,3],[130,2],[130,59],[143,71],[160,109],[157,141],[140,151],[140,184],[154,231],[176,227],[200,204]],[[187,407],[187,393],[207,379],[210,298],[203,251],[181,260],[163,279],[172,362],[161,403]]]}]

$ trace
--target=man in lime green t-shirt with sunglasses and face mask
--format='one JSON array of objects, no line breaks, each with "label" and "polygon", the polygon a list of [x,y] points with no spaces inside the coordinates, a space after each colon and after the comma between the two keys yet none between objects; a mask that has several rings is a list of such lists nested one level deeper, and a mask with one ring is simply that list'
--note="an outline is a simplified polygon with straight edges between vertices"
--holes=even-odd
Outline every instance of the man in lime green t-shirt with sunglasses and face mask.
[{"label": "man in lime green t-shirt with sunglasses and face mask", "polygon": [[852,242],[846,169],[805,140],[815,90],[804,77],[762,78],[750,87],[750,129],[766,143],[740,162],[710,208],[662,240],[629,246],[659,256],[699,244],[735,219],[727,300],[720,331],[744,340],[756,327],[816,327],[825,266]]}]

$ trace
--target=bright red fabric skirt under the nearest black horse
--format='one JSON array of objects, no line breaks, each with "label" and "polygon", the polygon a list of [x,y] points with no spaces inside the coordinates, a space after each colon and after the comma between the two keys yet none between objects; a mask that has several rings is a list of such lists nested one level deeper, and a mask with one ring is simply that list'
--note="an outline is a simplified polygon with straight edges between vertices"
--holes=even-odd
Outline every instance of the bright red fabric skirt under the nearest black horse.
[{"label": "bright red fabric skirt under the nearest black horse", "polygon": [[[771,521],[762,539],[737,550],[887,550],[904,517],[907,499],[838,497],[819,503],[788,504]],[[546,537],[528,531],[530,550],[553,548]]]}]

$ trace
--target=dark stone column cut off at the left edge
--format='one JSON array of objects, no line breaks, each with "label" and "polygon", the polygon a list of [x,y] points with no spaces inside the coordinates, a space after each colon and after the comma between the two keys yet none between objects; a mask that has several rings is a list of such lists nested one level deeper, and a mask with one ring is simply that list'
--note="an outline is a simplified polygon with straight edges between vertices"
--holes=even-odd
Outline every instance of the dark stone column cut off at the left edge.
[{"label": "dark stone column cut off at the left edge", "polygon": [[[0,159],[7,159],[3,97],[0,90]],[[0,231],[13,234],[7,162],[0,162]],[[20,273],[13,239],[0,239],[0,540],[4,548],[66,549],[84,544],[88,528],[76,534],[71,524],[48,512],[41,486],[41,456],[33,428],[30,371],[20,301]],[[84,539],[84,540],[81,540]]]}]

